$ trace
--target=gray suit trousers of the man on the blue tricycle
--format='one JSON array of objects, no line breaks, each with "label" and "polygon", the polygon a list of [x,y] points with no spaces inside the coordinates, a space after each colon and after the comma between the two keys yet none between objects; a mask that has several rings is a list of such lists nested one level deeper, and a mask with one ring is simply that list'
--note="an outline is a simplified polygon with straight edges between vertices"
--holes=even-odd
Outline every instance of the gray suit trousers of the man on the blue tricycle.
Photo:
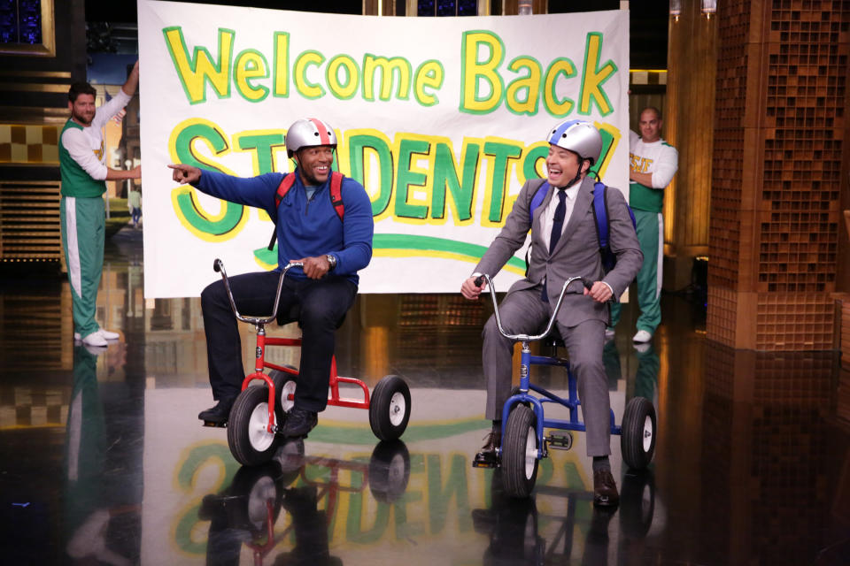
[{"label": "gray suit trousers of the man on the blue tricycle", "polygon": [[[540,300],[541,287],[531,287],[506,295],[498,307],[506,333],[537,333],[545,330],[551,316],[549,303]],[[591,301],[591,298],[587,298]],[[558,325],[567,346],[570,368],[577,379],[582,402],[582,418],[587,428],[587,455],[611,454],[611,402],[608,380],[602,363],[605,323],[590,319],[576,326]],[[496,317],[490,317],[483,330],[483,370],[487,380],[484,415],[490,420],[502,417],[502,407],[511,393],[514,341],[498,332]],[[534,382],[532,369],[531,381]]]}]

